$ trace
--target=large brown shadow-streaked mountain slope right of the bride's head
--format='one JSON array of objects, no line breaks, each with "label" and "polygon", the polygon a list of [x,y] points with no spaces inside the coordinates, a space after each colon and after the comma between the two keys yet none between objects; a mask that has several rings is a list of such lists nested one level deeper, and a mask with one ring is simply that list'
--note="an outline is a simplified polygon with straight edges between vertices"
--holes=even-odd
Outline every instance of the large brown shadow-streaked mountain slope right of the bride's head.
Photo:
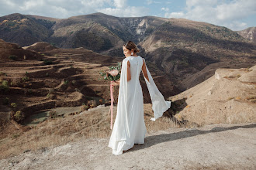
[{"label": "large brown shadow-streaked mountain slope right of the bride's head", "polygon": [[[189,87],[183,80],[194,76],[213,63],[227,62],[227,66],[240,68],[241,63],[255,61],[256,45],[247,42],[236,32],[225,27],[188,19],[169,19],[157,27],[143,42],[147,59],[168,76],[178,77],[175,82],[182,90]],[[212,76],[209,73],[206,76]],[[201,83],[194,77],[192,84]],[[200,80],[201,79],[201,80]]]}]

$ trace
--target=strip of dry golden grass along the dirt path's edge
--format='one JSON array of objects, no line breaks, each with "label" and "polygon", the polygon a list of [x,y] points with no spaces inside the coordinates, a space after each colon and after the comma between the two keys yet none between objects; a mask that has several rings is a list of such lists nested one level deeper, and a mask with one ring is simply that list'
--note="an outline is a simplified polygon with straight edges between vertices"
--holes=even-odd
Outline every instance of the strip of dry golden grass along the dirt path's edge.
[{"label": "strip of dry golden grass along the dirt path's edge", "polygon": [[[85,138],[108,138],[111,134],[109,107],[86,110],[84,114],[68,115],[43,121],[35,128],[19,132],[1,141],[2,158],[19,155],[26,150],[38,150],[50,146],[65,145],[71,141],[81,141]],[[113,109],[116,117],[116,107]],[[179,125],[164,114],[157,121],[153,117],[151,104],[144,104],[144,121],[147,132],[177,128]],[[115,120],[113,120],[114,122]]]}]

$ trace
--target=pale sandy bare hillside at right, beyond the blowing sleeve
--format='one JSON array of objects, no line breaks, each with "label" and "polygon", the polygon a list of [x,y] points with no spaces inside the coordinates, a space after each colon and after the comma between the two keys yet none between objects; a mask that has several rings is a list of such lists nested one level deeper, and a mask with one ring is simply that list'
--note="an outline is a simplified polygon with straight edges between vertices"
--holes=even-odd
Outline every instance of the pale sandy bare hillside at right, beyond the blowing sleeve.
[{"label": "pale sandy bare hillside at right, beyond the blowing sleeve", "polygon": [[238,124],[256,121],[256,66],[217,69],[195,87],[169,97],[179,121],[190,124]]}]

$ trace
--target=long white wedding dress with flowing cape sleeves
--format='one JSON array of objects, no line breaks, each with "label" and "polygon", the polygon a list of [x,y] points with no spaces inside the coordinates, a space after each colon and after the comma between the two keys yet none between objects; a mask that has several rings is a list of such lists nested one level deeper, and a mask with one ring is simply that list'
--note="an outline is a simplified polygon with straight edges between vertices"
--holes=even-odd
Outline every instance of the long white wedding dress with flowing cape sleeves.
[{"label": "long white wedding dress with flowing cape sleeves", "polygon": [[[127,82],[128,60],[130,62],[131,80]],[[116,121],[109,139],[109,148],[112,148],[113,155],[123,154],[123,151],[133,148],[134,144],[144,144],[147,129],[144,122],[144,99],[139,80],[142,65],[143,58],[140,56],[128,56],[123,59]],[[147,83],[154,111],[154,118],[150,120],[155,121],[171,107],[171,101],[164,100],[148,70],[147,76],[149,81],[145,76],[144,79]]]}]

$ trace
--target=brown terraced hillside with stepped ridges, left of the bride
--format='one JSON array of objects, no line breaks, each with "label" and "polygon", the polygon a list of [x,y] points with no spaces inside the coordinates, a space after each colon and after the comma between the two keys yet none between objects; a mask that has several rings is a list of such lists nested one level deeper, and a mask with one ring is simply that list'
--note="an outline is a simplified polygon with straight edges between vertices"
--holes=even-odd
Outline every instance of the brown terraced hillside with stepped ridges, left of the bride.
[{"label": "brown terraced hillside with stepped ridges, left of the bride", "polygon": [[[116,66],[123,58],[84,48],[58,49],[47,42],[36,42],[23,49],[2,39],[0,42],[0,54],[7,54],[8,50],[9,54],[19,52],[15,58],[0,57],[0,141],[50,119],[50,110],[56,107],[61,110],[54,117],[64,113],[76,115],[102,104],[109,106],[109,82],[102,80],[99,71]],[[152,72],[152,76],[164,97],[178,93],[162,75]],[[150,96],[142,74],[140,82],[144,102],[148,103]],[[115,104],[117,97],[118,87],[114,90]]]}]

